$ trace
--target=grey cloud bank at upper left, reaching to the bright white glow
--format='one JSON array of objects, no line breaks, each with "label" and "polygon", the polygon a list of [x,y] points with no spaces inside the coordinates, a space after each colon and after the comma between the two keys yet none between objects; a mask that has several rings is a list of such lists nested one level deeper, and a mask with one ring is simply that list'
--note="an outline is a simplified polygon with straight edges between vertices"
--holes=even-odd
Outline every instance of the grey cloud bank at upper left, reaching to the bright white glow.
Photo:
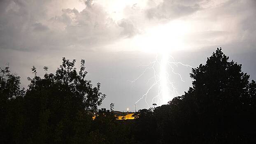
[{"label": "grey cloud bank at upper left, reaching to the bright white glow", "polygon": [[92,50],[135,35],[136,29],[129,20],[114,21],[92,0],[84,1],[84,5],[85,9],[79,12],[76,8],[57,9],[50,0],[1,1],[0,48]]}]

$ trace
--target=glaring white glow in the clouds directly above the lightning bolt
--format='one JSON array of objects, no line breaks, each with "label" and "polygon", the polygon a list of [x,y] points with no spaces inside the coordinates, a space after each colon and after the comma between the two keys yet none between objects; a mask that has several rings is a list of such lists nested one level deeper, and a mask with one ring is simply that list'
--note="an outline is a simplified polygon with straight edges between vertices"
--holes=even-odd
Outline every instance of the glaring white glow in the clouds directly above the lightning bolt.
[{"label": "glaring white glow in the clouds directly above the lightning bolt", "polygon": [[144,52],[170,53],[175,50],[188,49],[186,37],[191,28],[188,22],[171,21],[164,25],[148,29],[143,35],[134,38],[137,49]]}]

